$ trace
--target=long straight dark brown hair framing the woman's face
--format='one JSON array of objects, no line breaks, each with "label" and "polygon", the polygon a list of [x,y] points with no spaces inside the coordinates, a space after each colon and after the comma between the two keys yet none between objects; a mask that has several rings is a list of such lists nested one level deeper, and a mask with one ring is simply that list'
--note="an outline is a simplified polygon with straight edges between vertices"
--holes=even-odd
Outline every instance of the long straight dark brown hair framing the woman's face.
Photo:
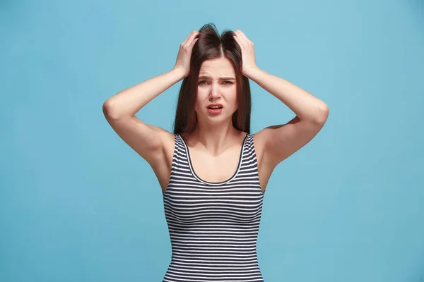
[{"label": "long straight dark brown hair framing the woman's face", "polygon": [[235,71],[237,85],[237,111],[232,114],[232,125],[237,130],[250,133],[252,101],[249,79],[242,74],[242,50],[232,37],[232,30],[219,35],[216,26],[208,23],[199,30],[199,39],[194,44],[190,59],[189,75],[182,80],[179,89],[174,133],[192,133],[196,129],[197,116],[194,104],[197,97],[197,80],[201,64],[209,59],[226,58]]}]

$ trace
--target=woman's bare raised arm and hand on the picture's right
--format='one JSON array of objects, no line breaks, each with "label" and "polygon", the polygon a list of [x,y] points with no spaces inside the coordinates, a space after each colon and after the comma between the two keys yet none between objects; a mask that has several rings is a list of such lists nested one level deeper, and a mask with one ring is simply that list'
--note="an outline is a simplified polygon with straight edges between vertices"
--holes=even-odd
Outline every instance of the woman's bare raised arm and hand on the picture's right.
[{"label": "woman's bare raised arm and hand on the picture's right", "polygon": [[267,170],[272,171],[317,135],[329,116],[329,107],[302,88],[258,68],[253,42],[241,30],[236,30],[233,35],[242,50],[243,74],[296,114],[288,123],[269,126],[255,134],[259,154],[263,156]]}]

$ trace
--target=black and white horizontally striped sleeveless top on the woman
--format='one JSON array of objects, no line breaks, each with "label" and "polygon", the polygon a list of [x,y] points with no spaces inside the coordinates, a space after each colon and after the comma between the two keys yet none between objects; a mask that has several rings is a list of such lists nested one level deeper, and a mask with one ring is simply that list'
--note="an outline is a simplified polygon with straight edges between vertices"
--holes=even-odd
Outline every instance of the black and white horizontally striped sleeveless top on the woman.
[{"label": "black and white horizontally striped sleeveless top on the woman", "polygon": [[253,134],[245,135],[235,173],[220,183],[196,175],[187,144],[175,134],[163,193],[172,246],[163,282],[263,282],[257,259],[263,199]]}]

